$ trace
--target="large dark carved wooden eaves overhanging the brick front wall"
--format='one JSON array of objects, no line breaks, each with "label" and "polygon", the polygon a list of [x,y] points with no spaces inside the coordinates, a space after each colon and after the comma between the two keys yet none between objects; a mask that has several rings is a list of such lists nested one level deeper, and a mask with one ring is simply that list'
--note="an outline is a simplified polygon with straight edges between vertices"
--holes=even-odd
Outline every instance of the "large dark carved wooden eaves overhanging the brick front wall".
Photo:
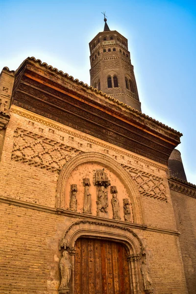
[{"label": "large dark carved wooden eaves overhanging the brick front wall", "polygon": [[17,71],[12,98],[19,107],[165,165],[182,135],[34,58]]}]

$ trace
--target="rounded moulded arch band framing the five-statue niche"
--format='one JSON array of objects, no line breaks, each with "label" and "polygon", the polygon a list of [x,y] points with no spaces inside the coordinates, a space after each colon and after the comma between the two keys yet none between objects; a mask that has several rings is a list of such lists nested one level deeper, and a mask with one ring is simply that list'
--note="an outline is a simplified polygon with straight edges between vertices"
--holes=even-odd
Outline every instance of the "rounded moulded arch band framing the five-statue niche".
[{"label": "rounded moulded arch band framing the five-statue niche", "polygon": [[97,153],[97,152],[87,152],[73,157],[69,162],[67,162],[63,169],[61,170],[57,183],[57,197],[56,197],[56,207],[60,209],[66,209],[65,207],[65,187],[67,180],[71,172],[79,165],[83,163],[98,163],[103,167],[108,168],[111,172],[114,172],[118,178],[123,183],[124,187],[127,189],[129,197],[132,202],[132,209],[134,215],[134,222],[143,223],[143,214],[140,203],[140,194],[138,188],[131,178],[130,174],[126,172],[123,167],[116,162],[114,159],[107,155]]}]

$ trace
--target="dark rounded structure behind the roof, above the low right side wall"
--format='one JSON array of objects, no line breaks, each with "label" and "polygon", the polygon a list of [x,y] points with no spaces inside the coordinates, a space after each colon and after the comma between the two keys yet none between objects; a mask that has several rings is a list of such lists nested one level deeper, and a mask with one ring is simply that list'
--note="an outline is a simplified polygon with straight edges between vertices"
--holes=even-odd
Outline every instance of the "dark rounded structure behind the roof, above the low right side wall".
[{"label": "dark rounded structure behind the roof, above the low right side wall", "polygon": [[176,177],[180,180],[187,181],[187,177],[184,171],[182,158],[180,151],[173,149],[170,158],[168,160],[168,166],[171,177]]}]

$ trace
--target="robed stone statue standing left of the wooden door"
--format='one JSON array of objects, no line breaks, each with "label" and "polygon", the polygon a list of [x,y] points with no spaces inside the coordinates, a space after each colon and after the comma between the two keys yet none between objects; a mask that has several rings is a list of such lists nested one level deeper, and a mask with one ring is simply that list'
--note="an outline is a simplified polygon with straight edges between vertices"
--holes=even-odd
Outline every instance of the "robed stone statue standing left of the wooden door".
[{"label": "robed stone statue standing left of the wooden door", "polygon": [[[60,293],[69,293],[69,282],[71,277],[71,263],[69,261],[69,253],[67,250],[63,251],[63,257],[60,260],[59,268],[61,271],[61,284],[59,286]],[[66,291],[67,290],[67,291]]]}]

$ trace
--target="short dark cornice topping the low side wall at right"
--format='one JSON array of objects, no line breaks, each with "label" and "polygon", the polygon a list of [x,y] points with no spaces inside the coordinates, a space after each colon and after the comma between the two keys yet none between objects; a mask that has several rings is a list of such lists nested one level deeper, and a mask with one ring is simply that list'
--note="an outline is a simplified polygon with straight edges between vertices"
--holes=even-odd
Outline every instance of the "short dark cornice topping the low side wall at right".
[{"label": "short dark cornice topping the low side wall at right", "polygon": [[196,198],[196,185],[171,177],[168,179],[170,189]]}]

